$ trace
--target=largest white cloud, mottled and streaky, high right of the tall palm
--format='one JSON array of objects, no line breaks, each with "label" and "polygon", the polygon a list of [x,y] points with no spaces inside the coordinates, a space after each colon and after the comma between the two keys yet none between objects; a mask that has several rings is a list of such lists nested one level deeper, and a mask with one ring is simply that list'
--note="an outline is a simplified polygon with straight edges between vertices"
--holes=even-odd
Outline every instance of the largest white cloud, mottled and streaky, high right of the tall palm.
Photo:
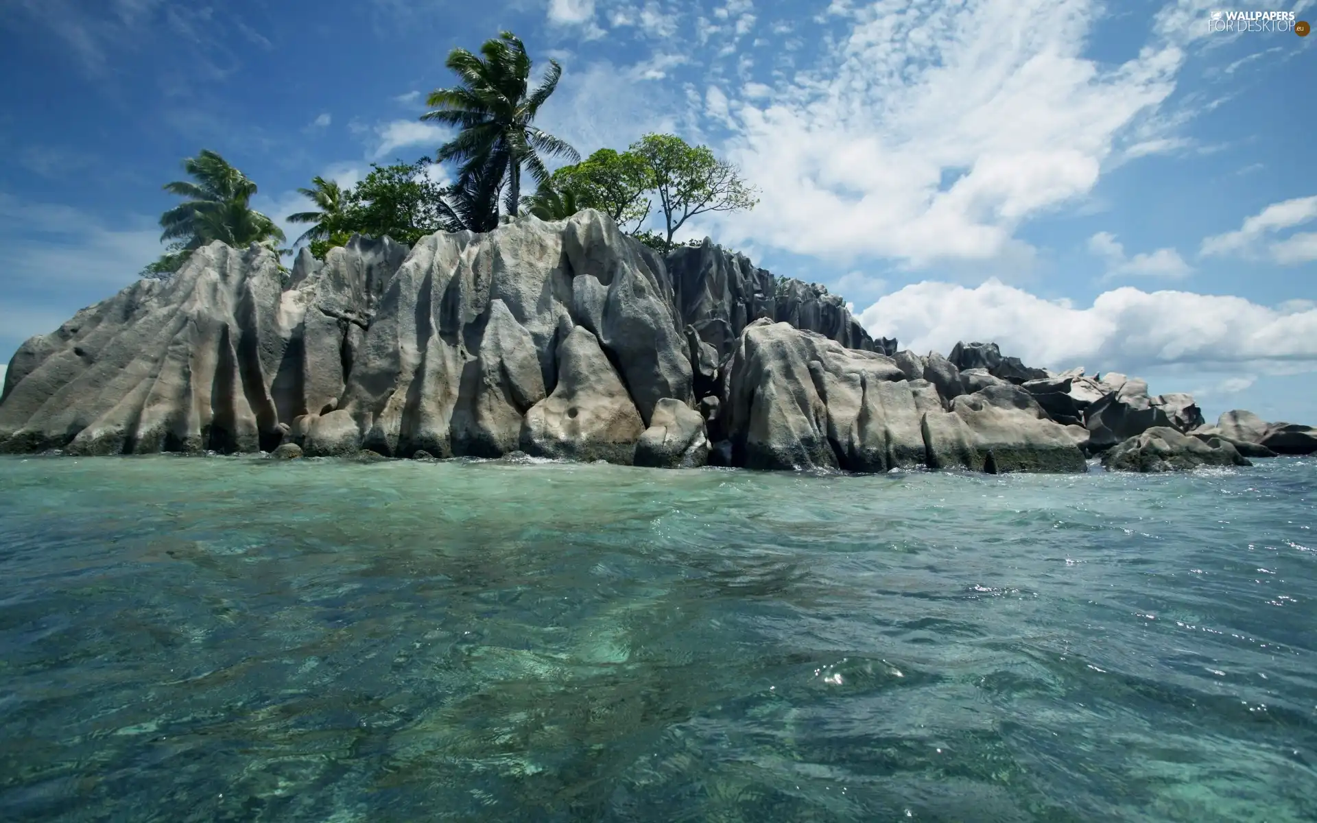
[{"label": "largest white cloud, mottled and streaky, high right of the tall palm", "polygon": [[[910,266],[1018,255],[1017,226],[1085,198],[1126,132],[1143,126],[1138,151],[1169,147],[1146,121],[1183,51],[1158,38],[1114,68],[1083,58],[1094,1],[834,5],[849,32],[817,70],[730,101],[727,153],[761,191],[719,219],[734,244]],[[944,187],[948,170],[964,174]]]}]

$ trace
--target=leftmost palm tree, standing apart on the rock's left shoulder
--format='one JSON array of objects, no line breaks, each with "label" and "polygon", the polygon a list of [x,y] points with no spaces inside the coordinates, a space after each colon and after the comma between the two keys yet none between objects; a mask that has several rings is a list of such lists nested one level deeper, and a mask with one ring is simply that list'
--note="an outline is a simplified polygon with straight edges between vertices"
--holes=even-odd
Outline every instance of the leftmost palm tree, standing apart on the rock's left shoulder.
[{"label": "leftmost palm tree, standing apart on the rock's left shoulder", "polygon": [[183,161],[191,180],[174,180],[165,191],[186,198],[161,215],[161,241],[171,240],[163,255],[142,270],[144,277],[167,277],[178,271],[192,252],[216,240],[234,248],[253,242],[269,246],[277,254],[283,230],[249,201],[257,186],[209,149]]}]

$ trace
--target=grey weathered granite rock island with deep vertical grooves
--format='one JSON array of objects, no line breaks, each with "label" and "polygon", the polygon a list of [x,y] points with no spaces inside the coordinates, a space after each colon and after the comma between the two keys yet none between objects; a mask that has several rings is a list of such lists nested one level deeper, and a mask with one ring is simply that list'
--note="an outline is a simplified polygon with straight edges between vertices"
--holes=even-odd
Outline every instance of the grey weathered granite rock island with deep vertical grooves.
[{"label": "grey weathered granite rock island with deep vertical grooves", "polygon": [[14,354],[0,452],[499,457],[693,467],[1084,471],[1308,454],[1317,431],[1121,374],[874,340],[840,298],[593,209],[356,237],[291,273],[213,242]]}]

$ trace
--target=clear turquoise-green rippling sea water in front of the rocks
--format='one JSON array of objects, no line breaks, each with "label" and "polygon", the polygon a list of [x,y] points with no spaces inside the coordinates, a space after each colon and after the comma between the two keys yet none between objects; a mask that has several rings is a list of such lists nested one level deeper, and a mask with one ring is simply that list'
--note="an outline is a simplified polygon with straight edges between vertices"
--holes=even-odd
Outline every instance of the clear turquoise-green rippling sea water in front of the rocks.
[{"label": "clear turquoise-green rippling sea water in front of the rocks", "polygon": [[1317,819],[1317,460],[0,460],[0,819]]}]

